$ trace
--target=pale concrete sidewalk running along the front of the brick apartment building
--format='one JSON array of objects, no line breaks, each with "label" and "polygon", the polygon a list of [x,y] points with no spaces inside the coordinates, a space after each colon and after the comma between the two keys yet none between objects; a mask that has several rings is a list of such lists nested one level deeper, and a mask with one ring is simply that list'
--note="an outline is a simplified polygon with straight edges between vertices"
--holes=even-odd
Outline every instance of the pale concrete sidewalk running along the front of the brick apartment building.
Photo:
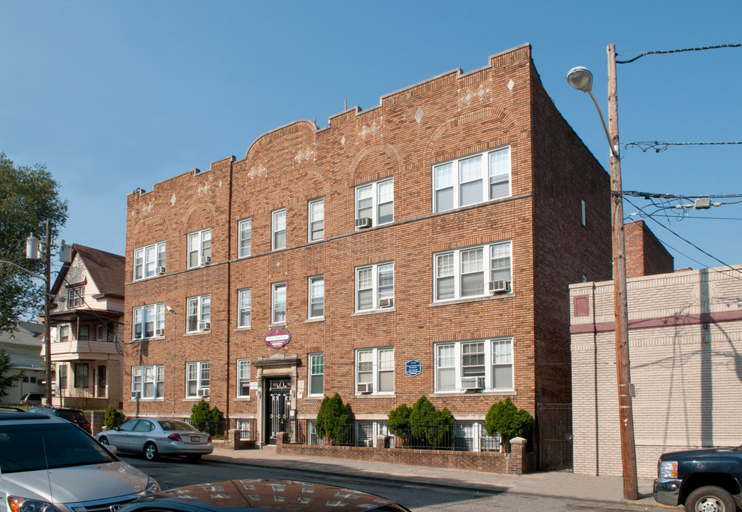
[{"label": "pale concrete sidewalk running along the front of the brick apartment building", "polygon": [[[327,457],[298,456],[276,453],[274,446],[260,450],[229,450],[214,446],[214,453],[207,456],[222,462],[265,467],[291,467],[328,475],[354,475],[366,478],[403,480],[424,485],[467,489],[494,490],[524,496],[554,496],[594,502],[620,503],[637,508],[667,508],[654,501],[651,495],[652,480],[639,480],[640,499],[623,499],[623,479],[620,476],[575,475],[568,472],[531,473],[528,475],[504,475],[480,473],[478,471],[444,470],[439,467],[421,467],[363,462]],[[677,509],[680,510],[680,509]]]}]

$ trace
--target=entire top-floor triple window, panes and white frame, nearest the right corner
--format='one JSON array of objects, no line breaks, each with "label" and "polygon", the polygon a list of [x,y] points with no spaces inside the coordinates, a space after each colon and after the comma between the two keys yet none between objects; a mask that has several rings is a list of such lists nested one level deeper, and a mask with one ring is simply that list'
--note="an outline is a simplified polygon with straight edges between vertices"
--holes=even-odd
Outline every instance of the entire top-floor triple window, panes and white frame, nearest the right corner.
[{"label": "entire top-floor triple window, panes and white frame, nearest the right corner", "polygon": [[433,211],[447,211],[509,196],[508,146],[433,165]]}]

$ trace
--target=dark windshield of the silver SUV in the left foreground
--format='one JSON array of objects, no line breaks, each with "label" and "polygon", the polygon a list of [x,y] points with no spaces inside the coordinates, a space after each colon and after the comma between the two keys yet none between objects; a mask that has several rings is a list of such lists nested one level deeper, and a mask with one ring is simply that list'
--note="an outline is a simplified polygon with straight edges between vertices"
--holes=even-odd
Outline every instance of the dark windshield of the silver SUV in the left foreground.
[{"label": "dark windshield of the silver SUV in the left foreground", "polygon": [[0,426],[0,472],[19,473],[115,462],[114,456],[73,424]]}]

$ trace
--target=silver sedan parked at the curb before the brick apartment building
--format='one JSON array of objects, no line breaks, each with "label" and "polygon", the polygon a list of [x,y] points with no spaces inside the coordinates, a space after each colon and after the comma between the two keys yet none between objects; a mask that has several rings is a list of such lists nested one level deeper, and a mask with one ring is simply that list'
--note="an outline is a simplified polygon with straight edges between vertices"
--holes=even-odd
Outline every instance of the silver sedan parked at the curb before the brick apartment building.
[{"label": "silver sedan parked at the curb before the brick apartment building", "polygon": [[147,460],[160,455],[184,455],[197,461],[214,451],[209,434],[171,418],[131,419],[113,430],[103,430],[96,439],[115,446],[119,452],[143,453]]}]

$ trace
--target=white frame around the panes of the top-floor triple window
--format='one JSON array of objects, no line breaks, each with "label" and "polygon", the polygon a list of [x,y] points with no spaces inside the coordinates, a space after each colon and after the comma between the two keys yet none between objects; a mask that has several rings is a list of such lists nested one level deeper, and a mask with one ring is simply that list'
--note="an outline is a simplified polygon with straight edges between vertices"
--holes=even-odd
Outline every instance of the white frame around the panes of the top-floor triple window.
[{"label": "white frame around the panes of the top-floor triple window", "polygon": [[[473,168],[470,168],[470,166],[477,162],[479,163],[479,174],[475,175],[472,174]],[[510,197],[513,194],[512,171],[510,145],[434,164],[433,212],[449,211],[461,206]],[[462,187],[476,181],[481,181],[481,194],[477,195],[475,193],[476,197],[472,201],[463,204]],[[502,188],[505,183],[508,186],[506,194],[493,193],[493,186]],[[450,191],[450,198],[446,200],[446,204],[450,203],[450,207],[439,205],[443,191]]]}]

